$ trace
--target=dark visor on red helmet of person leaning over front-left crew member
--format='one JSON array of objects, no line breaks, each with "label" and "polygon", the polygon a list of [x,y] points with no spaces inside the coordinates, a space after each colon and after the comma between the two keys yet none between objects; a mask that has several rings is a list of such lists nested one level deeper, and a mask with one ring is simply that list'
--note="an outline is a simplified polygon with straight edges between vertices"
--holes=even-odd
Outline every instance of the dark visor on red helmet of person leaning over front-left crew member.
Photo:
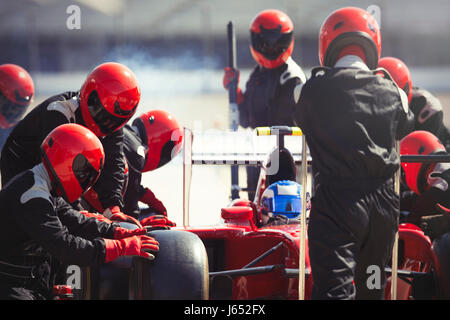
[{"label": "dark visor on red helmet of person leaning over front-left crew member", "polygon": [[[118,104],[118,102],[116,102],[116,104]],[[113,133],[117,128],[128,121],[128,118],[119,118],[109,113],[105,107],[103,107],[97,91],[91,92],[87,105],[95,124],[100,128],[101,132],[106,135]]]}]

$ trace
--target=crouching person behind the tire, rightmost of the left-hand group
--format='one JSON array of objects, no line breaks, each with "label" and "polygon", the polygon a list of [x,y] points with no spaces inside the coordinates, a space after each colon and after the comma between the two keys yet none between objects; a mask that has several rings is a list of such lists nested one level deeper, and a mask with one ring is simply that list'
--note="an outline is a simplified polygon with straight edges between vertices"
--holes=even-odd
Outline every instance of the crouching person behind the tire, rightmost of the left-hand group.
[{"label": "crouching person behind the tire, rightmost of the left-hand group", "polygon": [[[175,226],[167,218],[164,204],[148,187],[142,185],[142,174],[161,168],[181,151],[183,132],[178,121],[166,111],[152,110],[137,117],[132,126],[125,125],[123,132],[124,152],[128,163],[123,212],[135,219],[143,218],[139,208],[139,202],[142,202],[156,213],[155,216],[141,220],[143,226]],[[93,189],[88,190],[82,199],[87,209],[94,208],[99,212],[103,210]]]}]

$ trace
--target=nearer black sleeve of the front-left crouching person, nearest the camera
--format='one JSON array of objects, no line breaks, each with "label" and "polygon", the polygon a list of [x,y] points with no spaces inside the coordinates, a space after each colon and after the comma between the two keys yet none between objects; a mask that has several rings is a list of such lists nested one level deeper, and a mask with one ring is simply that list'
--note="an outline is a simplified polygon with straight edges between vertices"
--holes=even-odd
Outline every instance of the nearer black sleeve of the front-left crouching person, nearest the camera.
[{"label": "nearer black sleeve of the front-left crouching person, nearest the camera", "polygon": [[92,266],[104,262],[104,241],[101,238],[89,241],[69,233],[49,200],[34,198],[20,209],[15,215],[16,222],[33,241],[63,263]]}]

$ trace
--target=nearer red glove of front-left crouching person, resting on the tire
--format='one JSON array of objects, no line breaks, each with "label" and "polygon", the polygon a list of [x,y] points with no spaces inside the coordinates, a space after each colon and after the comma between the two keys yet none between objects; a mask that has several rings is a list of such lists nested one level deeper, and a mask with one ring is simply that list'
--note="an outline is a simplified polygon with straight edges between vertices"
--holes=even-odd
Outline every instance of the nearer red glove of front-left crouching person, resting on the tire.
[{"label": "nearer red glove of front-left crouching person, resting on the tire", "polygon": [[159,251],[159,243],[149,236],[133,236],[121,240],[103,239],[105,241],[105,262],[121,256],[140,256],[149,260],[155,259]]}]

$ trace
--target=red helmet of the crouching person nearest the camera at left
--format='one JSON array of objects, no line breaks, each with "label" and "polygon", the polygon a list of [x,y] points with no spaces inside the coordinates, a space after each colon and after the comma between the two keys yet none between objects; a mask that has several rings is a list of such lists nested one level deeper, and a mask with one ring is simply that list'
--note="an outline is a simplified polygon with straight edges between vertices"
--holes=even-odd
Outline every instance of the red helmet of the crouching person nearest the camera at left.
[{"label": "red helmet of the crouching person nearest the camera at left", "polygon": [[90,188],[103,168],[105,153],[89,129],[68,123],[56,127],[41,145],[52,189],[69,203]]}]

